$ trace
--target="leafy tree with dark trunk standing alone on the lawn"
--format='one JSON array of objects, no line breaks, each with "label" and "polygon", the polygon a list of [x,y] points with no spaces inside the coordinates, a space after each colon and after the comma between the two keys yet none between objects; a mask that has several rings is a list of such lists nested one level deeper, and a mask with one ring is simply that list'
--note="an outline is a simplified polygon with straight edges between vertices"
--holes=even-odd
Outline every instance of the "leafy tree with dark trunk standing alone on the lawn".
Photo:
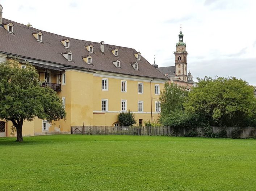
[{"label": "leafy tree with dark trunk standing alone on the lawn", "polygon": [[35,117],[49,122],[66,117],[62,101],[54,90],[41,88],[35,68],[19,61],[0,63],[0,119],[12,121],[18,142],[23,141],[24,121]]}]

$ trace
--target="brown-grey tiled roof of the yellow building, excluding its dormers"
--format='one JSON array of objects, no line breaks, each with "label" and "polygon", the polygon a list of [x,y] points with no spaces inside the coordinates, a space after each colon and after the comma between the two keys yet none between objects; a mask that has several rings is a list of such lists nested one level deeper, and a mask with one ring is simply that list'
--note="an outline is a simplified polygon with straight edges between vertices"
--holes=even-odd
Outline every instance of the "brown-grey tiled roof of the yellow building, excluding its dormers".
[{"label": "brown-grey tiled roof of the yellow building, excluding its dormers", "polygon": [[[9,20],[3,18],[3,22]],[[119,74],[127,74],[134,76],[144,76],[156,79],[167,79],[161,72],[156,70],[143,57],[140,60],[134,56],[138,52],[132,48],[125,48],[116,45],[104,44],[104,53],[100,51],[100,43],[85,40],[77,40],[70,37],[56,35],[50,32],[41,31],[17,22],[11,21],[14,25],[13,33],[8,33],[3,27],[0,27],[0,52],[11,55],[17,55],[25,58],[32,58],[41,61],[58,63],[68,67],[88,68],[90,70],[107,71]],[[42,32],[42,43],[39,43],[32,33]],[[60,42],[63,39],[70,40],[70,49],[67,49]],[[93,53],[89,53],[93,60],[93,65],[88,65],[82,59],[82,56],[88,51],[85,45],[92,44]],[[111,52],[112,49],[118,48],[119,57],[122,68],[112,64],[112,60],[116,57]],[[71,51],[73,53],[73,62],[67,61],[61,54],[62,52]],[[135,70],[130,63],[137,62],[139,70]]]}]

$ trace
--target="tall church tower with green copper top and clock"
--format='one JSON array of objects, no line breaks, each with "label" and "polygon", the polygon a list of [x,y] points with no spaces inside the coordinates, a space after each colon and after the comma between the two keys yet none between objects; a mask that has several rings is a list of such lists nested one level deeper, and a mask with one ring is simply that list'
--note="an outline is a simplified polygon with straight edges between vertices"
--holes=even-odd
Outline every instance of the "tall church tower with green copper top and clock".
[{"label": "tall church tower with green copper top and clock", "polygon": [[187,55],[186,43],[183,42],[183,34],[180,27],[179,43],[176,44],[175,54],[175,76],[187,81]]}]

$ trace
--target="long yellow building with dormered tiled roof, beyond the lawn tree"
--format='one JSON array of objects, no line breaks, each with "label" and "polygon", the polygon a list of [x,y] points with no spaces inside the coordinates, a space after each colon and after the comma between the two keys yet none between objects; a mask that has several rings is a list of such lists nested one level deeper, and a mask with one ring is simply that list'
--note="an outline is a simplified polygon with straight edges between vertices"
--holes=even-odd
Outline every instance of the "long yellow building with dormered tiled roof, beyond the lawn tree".
[{"label": "long yellow building with dormered tiled roof, beyond the lawn tree", "polygon": [[[55,124],[39,119],[25,122],[24,136],[70,133],[71,126],[83,124],[119,125],[117,115],[128,109],[135,113],[137,125],[158,119],[159,93],[167,77],[140,52],[0,21],[0,62],[18,57],[21,67],[26,67],[23,61],[32,63],[42,88],[54,89],[67,112],[66,121]],[[1,121],[1,126],[0,136],[11,136],[12,123]]]}]

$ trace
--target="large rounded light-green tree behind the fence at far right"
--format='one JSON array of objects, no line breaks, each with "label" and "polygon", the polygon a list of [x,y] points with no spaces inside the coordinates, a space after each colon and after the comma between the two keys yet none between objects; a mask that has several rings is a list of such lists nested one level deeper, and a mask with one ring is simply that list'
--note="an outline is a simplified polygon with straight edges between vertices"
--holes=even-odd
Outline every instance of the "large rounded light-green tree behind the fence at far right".
[{"label": "large rounded light-green tree behind the fence at far right", "polygon": [[208,120],[210,125],[252,125],[256,117],[254,87],[235,77],[205,76],[198,79],[198,86],[188,95],[185,111],[196,113]]}]

